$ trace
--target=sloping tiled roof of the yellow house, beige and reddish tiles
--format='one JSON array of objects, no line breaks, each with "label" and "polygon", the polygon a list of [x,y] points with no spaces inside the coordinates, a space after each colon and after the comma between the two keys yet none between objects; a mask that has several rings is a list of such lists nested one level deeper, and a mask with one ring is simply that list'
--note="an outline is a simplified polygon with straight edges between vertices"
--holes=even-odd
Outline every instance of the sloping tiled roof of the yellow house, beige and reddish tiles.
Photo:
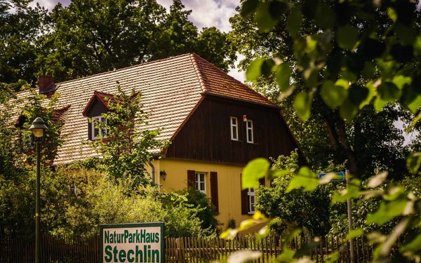
[{"label": "sloping tiled roof of the yellow house, beige and reddish tiles", "polygon": [[66,111],[61,133],[65,143],[58,149],[55,163],[96,155],[88,143],[88,121],[82,112],[95,91],[97,96],[107,97],[117,93],[118,85],[126,93],[133,89],[140,92],[142,104],[149,113],[147,126],[143,128],[161,129],[159,139],[164,140],[171,139],[206,94],[275,105],[196,54],[57,83],[58,107],[66,107]]}]

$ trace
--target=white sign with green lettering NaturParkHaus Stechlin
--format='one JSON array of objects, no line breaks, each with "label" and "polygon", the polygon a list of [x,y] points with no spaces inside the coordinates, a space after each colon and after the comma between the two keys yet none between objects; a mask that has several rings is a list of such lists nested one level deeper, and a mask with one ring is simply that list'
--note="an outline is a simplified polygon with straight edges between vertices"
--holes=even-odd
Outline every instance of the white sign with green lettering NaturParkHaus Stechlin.
[{"label": "white sign with green lettering NaturParkHaus Stechlin", "polygon": [[102,224],[100,262],[164,262],[163,222]]}]

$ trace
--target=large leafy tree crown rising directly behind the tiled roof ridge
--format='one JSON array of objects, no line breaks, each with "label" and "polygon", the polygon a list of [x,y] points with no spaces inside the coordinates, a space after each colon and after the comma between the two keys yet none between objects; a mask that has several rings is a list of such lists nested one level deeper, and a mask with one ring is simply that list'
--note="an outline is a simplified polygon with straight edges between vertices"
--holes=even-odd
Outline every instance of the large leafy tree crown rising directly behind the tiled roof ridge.
[{"label": "large leafy tree crown rising directly behind the tiled roof ridge", "polygon": [[[168,13],[155,0],[73,0],[53,8],[51,32],[40,37],[38,74],[66,81],[141,62],[196,52],[227,70],[235,52],[221,53],[224,33],[197,28],[180,0]],[[203,38],[215,41],[202,41]],[[223,45],[221,47],[220,45]],[[227,47],[229,44],[227,43]]]}]

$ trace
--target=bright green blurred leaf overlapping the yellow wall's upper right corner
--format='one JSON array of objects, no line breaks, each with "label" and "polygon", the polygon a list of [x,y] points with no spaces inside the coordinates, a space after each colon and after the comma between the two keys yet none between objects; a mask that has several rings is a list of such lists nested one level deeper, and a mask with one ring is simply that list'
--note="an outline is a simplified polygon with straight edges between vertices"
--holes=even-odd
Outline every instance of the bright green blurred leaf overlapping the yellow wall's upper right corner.
[{"label": "bright green blurred leaf overlapping the yellow wall's upper right corner", "polygon": [[268,173],[269,167],[269,161],[264,158],[258,158],[248,162],[246,167],[243,169],[243,176],[241,177],[241,188],[258,188],[259,179],[265,177],[265,175]]}]

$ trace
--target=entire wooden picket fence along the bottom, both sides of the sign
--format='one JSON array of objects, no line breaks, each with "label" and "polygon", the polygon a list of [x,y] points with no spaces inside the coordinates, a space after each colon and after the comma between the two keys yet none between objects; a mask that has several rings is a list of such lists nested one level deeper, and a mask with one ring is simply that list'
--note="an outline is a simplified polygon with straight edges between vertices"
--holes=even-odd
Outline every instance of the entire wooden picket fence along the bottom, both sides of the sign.
[{"label": "entire wooden picket fence along the bottom, both sides of the sign", "polygon": [[[309,252],[314,262],[324,262],[334,251],[339,251],[338,262],[350,262],[349,245],[344,236],[323,237],[316,247],[309,246],[314,238],[297,236],[288,243],[290,250],[302,253]],[[270,262],[282,252],[282,241],[279,236],[237,236],[232,241],[221,238],[166,238],[166,262],[212,262],[227,258],[239,250],[258,251],[262,256],[255,262]],[[356,262],[370,262],[373,258],[373,247],[363,241],[354,239]],[[0,262],[26,263],[34,262],[34,238],[0,236]],[[392,255],[397,250],[392,250]],[[41,262],[100,262],[99,237],[81,240],[79,238],[57,238],[44,235],[41,237]]]}]

